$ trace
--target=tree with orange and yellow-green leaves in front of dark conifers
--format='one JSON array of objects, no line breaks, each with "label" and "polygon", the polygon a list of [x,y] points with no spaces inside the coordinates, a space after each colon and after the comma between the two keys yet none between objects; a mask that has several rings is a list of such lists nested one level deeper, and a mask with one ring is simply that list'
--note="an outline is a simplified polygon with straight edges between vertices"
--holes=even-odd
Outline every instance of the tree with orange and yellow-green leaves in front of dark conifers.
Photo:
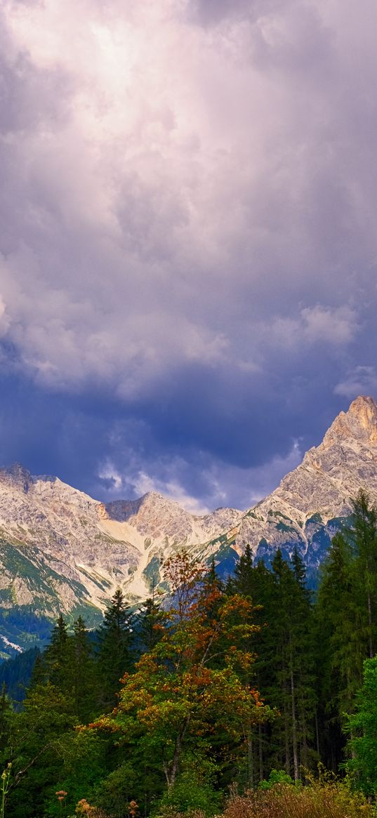
[{"label": "tree with orange and yellow-green leaves in front of dark conifers", "polygon": [[254,661],[245,645],[259,629],[251,602],[227,596],[214,570],[206,575],[185,552],[165,563],[164,579],[173,595],[164,635],[123,677],[119,706],[94,726],[144,748],[171,788],[182,753],[210,754],[218,735],[241,745],[270,711],[245,683]]}]

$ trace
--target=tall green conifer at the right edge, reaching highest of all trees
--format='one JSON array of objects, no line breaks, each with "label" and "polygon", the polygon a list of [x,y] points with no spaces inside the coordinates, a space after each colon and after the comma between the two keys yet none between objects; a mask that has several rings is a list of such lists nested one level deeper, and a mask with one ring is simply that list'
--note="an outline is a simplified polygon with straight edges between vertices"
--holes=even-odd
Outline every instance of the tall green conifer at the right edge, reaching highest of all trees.
[{"label": "tall green conifer at the right edge, reaching highest of all trees", "polygon": [[335,769],[344,714],[353,712],[364,660],[377,645],[377,510],[363,490],[351,503],[349,524],[334,536],[323,564],[316,605],[321,733],[325,762]]}]

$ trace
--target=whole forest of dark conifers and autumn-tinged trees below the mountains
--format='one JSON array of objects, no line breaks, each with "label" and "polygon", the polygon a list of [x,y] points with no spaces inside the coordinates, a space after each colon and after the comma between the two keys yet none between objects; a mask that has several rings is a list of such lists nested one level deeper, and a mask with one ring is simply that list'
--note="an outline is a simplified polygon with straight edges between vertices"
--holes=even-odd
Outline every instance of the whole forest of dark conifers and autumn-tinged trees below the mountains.
[{"label": "whole forest of dark conifers and autumn-tinged trees below the mountains", "polygon": [[248,546],[227,582],[180,551],[170,607],[119,590],[96,633],[60,616],[3,675],[1,818],[373,814],[377,509],[352,508],[315,592],[298,551]]}]

